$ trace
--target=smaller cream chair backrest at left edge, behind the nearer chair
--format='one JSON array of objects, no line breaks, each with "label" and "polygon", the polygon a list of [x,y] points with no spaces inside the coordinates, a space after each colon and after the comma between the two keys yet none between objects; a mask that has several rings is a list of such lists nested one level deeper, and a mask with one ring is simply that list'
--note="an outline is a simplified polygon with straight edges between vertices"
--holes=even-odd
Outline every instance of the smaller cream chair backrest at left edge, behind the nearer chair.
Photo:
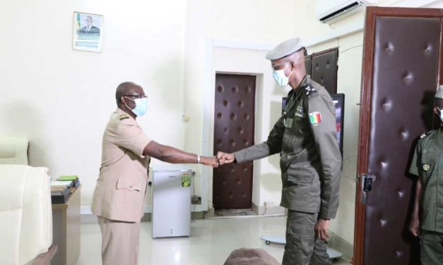
[{"label": "smaller cream chair backrest at left edge, behind the nearer chair", "polygon": [[28,144],[24,137],[0,137],[0,164],[28,165]]}]

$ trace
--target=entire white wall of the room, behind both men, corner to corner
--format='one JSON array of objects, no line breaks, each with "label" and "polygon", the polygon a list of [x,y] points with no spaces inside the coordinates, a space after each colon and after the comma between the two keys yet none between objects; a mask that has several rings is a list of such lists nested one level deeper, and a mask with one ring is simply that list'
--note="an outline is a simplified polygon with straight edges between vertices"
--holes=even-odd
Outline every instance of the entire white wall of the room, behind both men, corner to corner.
[{"label": "entire white wall of the room, behind both men, corner to corner", "polygon": [[[293,36],[329,34],[361,23],[359,13],[331,26],[315,19],[309,0],[8,1],[0,30],[0,135],[30,138],[30,164],[54,176],[77,174],[82,205],[89,205],[98,178],[101,138],[116,108],[114,91],[131,80],[148,94],[149,110],[138,119],[154,140],[211,154],[211,117],[206,94],[215,71],[259,76],[256,142],[266,140],[284,92],[272,83],[265,49],[213,47],[212,40],[272,47]],[[417,1],[380,0],[382,5]],[[429,1],[418,1],[425,3]],[[442,8],[442,1],[430,7]],[[102,53],[71,49],[73,11],[104,15]],[[356,144],[362,33],[333,39],[309,52],[339,47],[338,92],[346,94],[341,207],[334,233],[353,242]],[[224,61],[223,58],[226,58]],[[207,100],[205,100],[207,99]],[[213,99],[212,99],[213,100]],[[277,110],[278,109],[278,110]],[[182,123],[182,114],[189,123]],[[280,202],[278,157],[257,162],[254,203]],[[153,164],[160,164],[154,160]],[[196,169],[196,194],[211,199],[210,169]],[[203,202],[201,210],[207,209]]]}]

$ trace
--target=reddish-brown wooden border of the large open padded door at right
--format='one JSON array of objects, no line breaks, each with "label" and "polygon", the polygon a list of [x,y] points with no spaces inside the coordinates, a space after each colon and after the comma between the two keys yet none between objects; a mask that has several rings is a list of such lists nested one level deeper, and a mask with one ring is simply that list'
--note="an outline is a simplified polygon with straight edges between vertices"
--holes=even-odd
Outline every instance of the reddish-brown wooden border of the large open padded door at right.
[{"label": "reddish-brown wooden border of the large open padded door at right", "polygon": [[[355,228],[354,228],[354,254],[351,261],[355,265],[364,264],[364,239],[365,239],[365,204],[360,202],[362,196],[360,175],[367,172],[370,141],[370,117],[372,101],[372,72],[374,59],[375,17],[400,16],[400,17],[442,17],[443,10],[438,8],[379,8],[368,7],[365,16],[365,33],[363,40],[362,80],[360,90],[360,128],[358,136],[358,164],[357,164],[357,190],[355,192]],[[443,19],[441,28],[443,29]],[[439,54],[443,55],[442,36],[440,36]],[[438,83],[442,84],[443,67],[439,63]],[[364,130],[362,129],[364,128]],[[361,155],[364,154],[364,155]]]}]

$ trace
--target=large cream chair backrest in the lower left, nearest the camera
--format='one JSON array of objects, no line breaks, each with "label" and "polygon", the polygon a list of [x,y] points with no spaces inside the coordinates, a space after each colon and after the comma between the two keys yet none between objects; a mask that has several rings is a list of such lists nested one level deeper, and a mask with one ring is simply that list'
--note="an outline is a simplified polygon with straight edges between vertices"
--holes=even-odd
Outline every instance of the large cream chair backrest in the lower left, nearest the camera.
[{"label": "large cream chair backrest in the lower left, nearest the camera", "polygon": [[26,264],[52,244],[47,171],[0,165],[0,264]]}]

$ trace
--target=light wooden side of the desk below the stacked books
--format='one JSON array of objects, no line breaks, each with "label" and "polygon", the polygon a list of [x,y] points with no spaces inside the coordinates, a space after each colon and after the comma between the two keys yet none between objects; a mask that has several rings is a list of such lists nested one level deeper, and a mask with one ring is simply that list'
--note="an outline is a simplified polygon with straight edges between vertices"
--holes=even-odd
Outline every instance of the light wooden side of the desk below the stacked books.
[{"label": "light wooden side of the desk below the stacked books", "polygon": [[76,265],[80,255],[81,185],[64,204],[52,204],[52,244],[58,250],[51,264]]}]

